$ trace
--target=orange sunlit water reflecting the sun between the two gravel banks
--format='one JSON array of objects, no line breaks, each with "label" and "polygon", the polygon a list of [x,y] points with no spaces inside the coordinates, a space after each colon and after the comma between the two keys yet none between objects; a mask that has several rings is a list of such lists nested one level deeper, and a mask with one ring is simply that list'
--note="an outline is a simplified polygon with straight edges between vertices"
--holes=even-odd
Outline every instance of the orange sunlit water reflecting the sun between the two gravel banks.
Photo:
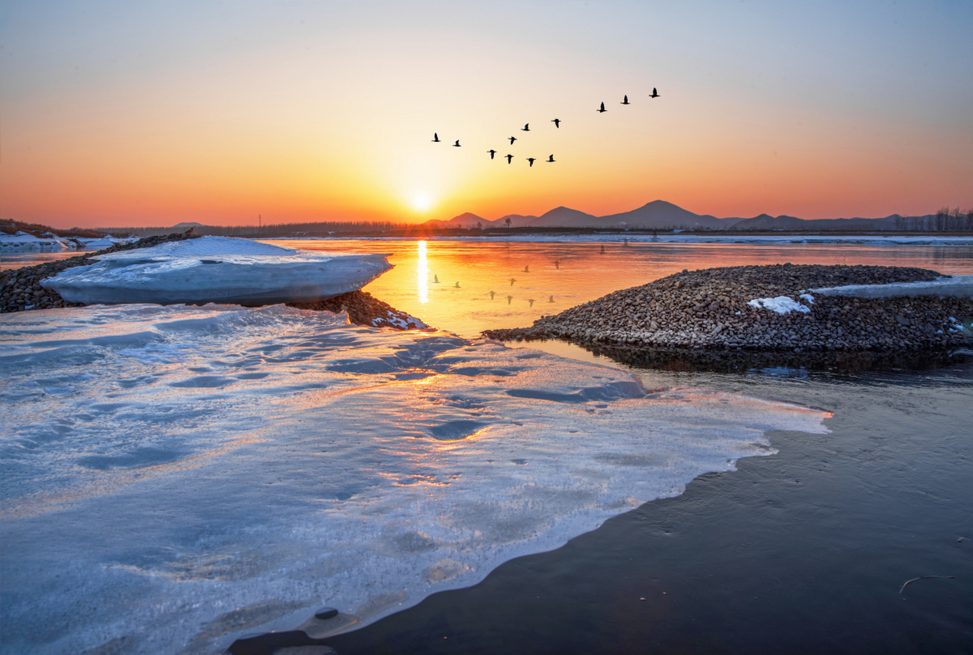
[{"label": "orange sunlit water reflecting the sun between the two gravel banks", "polygon": [[[382,274],[365,290],[429,325],[464,337],[476,337],[488,328],[526,327],[544,314],[559,313],[606,293],[683,269],[791,262],[912,266],[946,274],[973,273],[973,247],[962,245],[626,245],[338,239],[274,242],[309,250],[390,253],[389,262],[395,269]],[[510,278],[515,281],[511,283]]]}]

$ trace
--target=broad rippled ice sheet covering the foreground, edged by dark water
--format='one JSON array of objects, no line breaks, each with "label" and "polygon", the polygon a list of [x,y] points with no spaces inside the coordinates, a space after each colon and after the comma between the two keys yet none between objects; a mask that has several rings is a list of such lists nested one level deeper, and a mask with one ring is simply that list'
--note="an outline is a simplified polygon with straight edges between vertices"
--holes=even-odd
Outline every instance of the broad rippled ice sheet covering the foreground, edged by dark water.
[{"label": "broad rippled ice sheet covering the foreground, edged by dark water", "polygon": [[0,366],[18,655],[361,626],[828,416],[282,306],[12,315]]}]

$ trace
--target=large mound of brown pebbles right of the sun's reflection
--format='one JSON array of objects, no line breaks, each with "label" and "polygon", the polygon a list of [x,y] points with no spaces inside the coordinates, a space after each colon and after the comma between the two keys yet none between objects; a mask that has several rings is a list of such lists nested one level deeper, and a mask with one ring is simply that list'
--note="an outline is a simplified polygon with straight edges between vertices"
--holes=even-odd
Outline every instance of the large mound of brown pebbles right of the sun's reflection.
[{"label": "large mound of brown pebbles right of the sun's reflection", "polygon": [[[675,273],[543,316],[532,327],[487,330],[492,339],[560,338],[581,344],[651,348],[890,350],[971,343],[961,322],[969,298],[862,299],[800,294],[848,284],[931,281],[934,271],[878,266],[782,264]],[[787,296],[804,311],[777,313],[749,301]]]}]

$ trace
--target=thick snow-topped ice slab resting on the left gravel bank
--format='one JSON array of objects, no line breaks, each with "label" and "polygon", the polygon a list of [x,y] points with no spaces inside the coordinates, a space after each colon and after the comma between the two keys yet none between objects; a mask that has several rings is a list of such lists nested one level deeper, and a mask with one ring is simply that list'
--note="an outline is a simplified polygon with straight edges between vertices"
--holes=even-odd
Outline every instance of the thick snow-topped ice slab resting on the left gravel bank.
[{"label": "thick snow-topped ice slab resting on the left gravel bank", "polygon": [[387,255],[310,252],[233,237],[98,255],[41,282],[72,303],[314,303],[392,268]]}]

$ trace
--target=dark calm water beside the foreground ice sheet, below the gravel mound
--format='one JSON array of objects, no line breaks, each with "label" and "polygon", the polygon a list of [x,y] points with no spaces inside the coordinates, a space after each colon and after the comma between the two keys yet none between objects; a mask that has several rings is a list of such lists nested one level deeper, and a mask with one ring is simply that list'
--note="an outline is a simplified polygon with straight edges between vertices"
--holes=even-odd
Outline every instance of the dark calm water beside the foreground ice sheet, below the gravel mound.
[{"label": "dark calm water beside the foreground ice sheet, below the gravel mound", "polygon": [[[639,374],[822,407],[832,433],[771,433],[777,455],[326,643],[342,655],[973,652],[973,365]],[[955,578],[900,593],[924,575]]]}]

